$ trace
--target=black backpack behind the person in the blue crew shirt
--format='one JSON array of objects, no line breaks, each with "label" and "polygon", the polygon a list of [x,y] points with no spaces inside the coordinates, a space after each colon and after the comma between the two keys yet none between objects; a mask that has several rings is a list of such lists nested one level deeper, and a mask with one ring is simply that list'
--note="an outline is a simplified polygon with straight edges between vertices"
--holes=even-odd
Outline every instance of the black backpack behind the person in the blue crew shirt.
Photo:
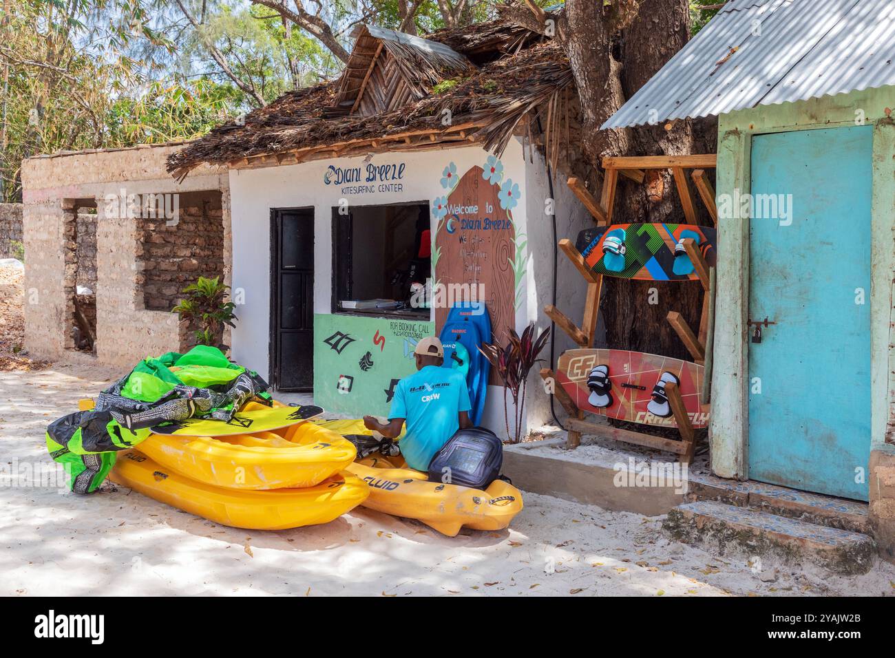
[{"label": "black backpack behind the person in the blue crew shirt", "polygon": [[429,481],[485,489],[503,466],[503,443],[484,427],[457,430],[429,465]]}]

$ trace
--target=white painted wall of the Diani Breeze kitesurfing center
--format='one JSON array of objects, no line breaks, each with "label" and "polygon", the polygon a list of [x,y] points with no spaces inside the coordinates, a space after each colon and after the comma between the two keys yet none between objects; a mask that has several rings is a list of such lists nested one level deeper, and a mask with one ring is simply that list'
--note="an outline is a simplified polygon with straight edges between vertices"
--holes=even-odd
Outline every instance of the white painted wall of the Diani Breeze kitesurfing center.
[{"label": "white painted wall of the Diani Breeze kitesurfing center", "polygon": [[[268,377],[268,340],[270,318],[270,209],[314,209],[314,312],[330,312],[332,287],[332,208],[346,199],[349,206],[379,205],[406,201],[431,201],[445,194],[441,187],[442,170],[456,164],[457,175],[469,167],[484,167],[488,152],[479,147],[432,150],[419,153],[377,154],[372,165],[405,163],[399,192],[367,192],[344,194],[342,186],[325,184],[324,174],[330,165],[358,167],[364,158],[337,158],[300,165],[233,169],[230,171],[231,220],[233,226],[233,286],[244,291],[244,305],[237,310],[240,321],[233,330],[234,359],[251,363]],[[544,214],[548,196],[546,168],[540,157],[527,161],[528,151],[520,141],[507,146],[501,160],[504,179],[519,183],[521,198],[513,209],[516,233],[525,233],[532,250],[524,281],[524,302],[516,310],[516,329],[529,321],[544,326],[543,305],[550,303],[553,239],[550,218]],[[575,235],[577,226],[584,227],[586,213],[574,200],[567,186],[555,185],[559,197],[558,237]],[[356,218],[355,218],[356,221]],[[434,235],[435,226],[432,226]],[[584,283],[565,260],[560,261],[558,305],[572,317],[581,315],[584,306]],[[570,285],[571,284],[571,285]],[[564,338],[564,337],[563,337]],[[316,338],[315,338],[316,339]],[[559,341],[558,350],[566,343]],[[536,374],[535,374],[536,377]],[[502,389],[491,387],[484,423],[496,428],[504,424]],[[540,425],[550,416],[548,397],[540,378],[529,387],[528,425]]]}]

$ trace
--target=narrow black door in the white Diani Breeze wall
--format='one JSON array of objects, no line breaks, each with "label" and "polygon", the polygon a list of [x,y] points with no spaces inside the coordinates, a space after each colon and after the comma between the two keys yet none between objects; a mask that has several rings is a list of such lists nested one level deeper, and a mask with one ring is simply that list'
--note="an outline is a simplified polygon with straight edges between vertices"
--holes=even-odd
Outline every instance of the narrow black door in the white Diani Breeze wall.
[{"label": "narrow black door in the white Diani Breeze wall", "polygon": [[314,213],[275,210],[272,221],[271,358],[278,390],[311,390],[314,383]]}]

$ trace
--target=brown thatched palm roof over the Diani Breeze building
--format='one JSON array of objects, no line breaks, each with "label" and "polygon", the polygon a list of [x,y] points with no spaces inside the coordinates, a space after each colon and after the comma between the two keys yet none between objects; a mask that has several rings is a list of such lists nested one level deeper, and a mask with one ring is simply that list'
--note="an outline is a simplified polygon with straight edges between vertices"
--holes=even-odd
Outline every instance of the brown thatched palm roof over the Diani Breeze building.
[{"label": "brown thatched palm roof over the Diani Breeze building", "polygon": [[[352,57],[357,65],[349,63],[337,81],[286,93],[240,124],[215,128],[168,158],[168,171],[183,177],[201,163],[263,166],[444,142],[477,142],[500,152],[525,115],[545,104],[556,107],[573,86],[558,44],[512,22],[441,30],[427,39],[381,32],[377,37],[377,31],[362,30],[356,62]],[[379,39],[381,47],[367,38]],[[358,92],[365,93],[369,82],[358,73],[363,64],[373,69],[375,51],[388,51],[400,62],[395,86],[405,87],[402,102],[395,107],[397,97],[386,98],[383,106],[379,98],[379,107],[393,107],[346,114],[346,107],[357,109]]]}]

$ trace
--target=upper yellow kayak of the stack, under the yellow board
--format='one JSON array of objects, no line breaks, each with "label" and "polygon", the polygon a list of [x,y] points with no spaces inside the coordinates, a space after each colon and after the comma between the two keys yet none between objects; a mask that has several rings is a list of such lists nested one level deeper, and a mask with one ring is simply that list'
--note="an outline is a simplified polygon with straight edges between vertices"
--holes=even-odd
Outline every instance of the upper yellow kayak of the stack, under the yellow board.
[{"label": "upper yellow kayak of the stack, under the yellow board", "polygon": [[201,483],[259,490],[312,487],[356,455],[351,441],[314,423],[236,436],[152,434],[140,450]]}]

